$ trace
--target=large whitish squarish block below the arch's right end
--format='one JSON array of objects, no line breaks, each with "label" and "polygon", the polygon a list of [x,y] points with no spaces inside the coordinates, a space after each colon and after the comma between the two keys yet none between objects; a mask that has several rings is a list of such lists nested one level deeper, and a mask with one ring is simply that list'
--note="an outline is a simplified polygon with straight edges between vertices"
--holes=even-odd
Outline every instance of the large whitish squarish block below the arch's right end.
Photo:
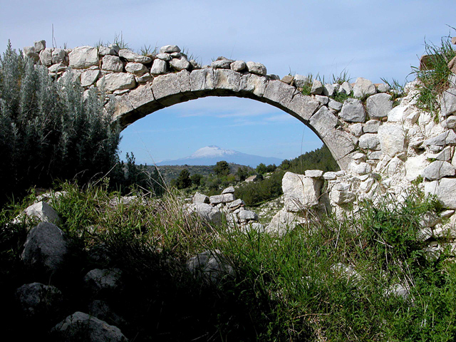
[{"label": "large whitish squarish block below the arch's right end", "polygon": [[322,180],[286,172],[282,178],[284,208],[289,212],[299,212],[318,204]]}]

